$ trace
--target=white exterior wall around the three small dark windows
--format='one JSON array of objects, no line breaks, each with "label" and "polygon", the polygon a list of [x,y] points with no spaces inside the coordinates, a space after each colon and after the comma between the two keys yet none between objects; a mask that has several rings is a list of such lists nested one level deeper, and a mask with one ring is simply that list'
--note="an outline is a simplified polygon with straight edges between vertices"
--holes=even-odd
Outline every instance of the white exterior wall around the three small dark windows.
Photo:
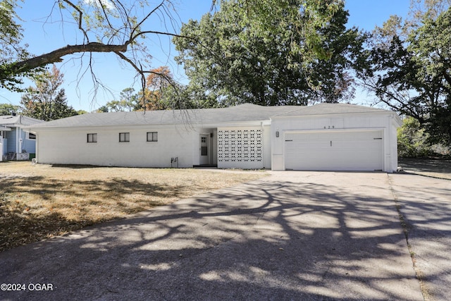
[{"label": "white exterior wall around the three small dark windows", "polygon": [[[158,141],[147,142],[147,132],[157,132]],[[96,143],[87,142],[88,133],[97,133]],[[130,142],[119,142],[119,133],[130,133]],[[192,167],[193,133],[175,126],[39,130],[37,161],[42,164],[171,167],[171,158],[178,157],[178,167]]]}]

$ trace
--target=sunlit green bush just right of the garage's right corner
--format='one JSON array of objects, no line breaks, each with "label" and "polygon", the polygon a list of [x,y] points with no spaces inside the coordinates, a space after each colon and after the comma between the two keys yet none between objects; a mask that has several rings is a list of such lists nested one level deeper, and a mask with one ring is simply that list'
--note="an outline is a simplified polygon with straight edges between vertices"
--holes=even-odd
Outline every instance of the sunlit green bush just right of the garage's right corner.
[{"label": "sunlit green bush just right of the garage's right corner", "polygon": [[421,128],[419,121],[406,117],[402,127],[397,129],[397,153],[402,157],[421,157],[431,154],[428,133]]}]

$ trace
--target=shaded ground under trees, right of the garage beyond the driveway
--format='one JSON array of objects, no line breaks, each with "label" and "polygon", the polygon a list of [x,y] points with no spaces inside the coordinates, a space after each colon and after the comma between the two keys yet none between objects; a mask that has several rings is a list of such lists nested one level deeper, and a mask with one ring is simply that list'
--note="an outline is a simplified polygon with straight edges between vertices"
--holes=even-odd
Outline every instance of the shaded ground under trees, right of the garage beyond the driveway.
[{"label": "shaded ground under trees, right of the garage beyond the driveway", "polygon": [[400,158],[398,165],[406,173],[451,180],[451,159]]}]

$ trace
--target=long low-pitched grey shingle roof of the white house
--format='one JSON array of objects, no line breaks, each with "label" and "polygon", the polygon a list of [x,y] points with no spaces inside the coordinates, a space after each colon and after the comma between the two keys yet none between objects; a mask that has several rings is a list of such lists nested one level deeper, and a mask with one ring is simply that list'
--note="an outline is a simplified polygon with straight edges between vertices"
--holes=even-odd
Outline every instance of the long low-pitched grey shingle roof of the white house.
[{"label": "long low-pitched grey shingle roof of the white house", "polygon": [[268,121],[273,116],[307,116],[321,115],[324,113],[366,113],[375,111],[385,110],[367,106],[355,106],[353,104],[317,104],[314,106],[258,106],[256,104],[240,104],[228,108],[216,109],[86,113],[41,123],[32,126],[32,128]]}]

